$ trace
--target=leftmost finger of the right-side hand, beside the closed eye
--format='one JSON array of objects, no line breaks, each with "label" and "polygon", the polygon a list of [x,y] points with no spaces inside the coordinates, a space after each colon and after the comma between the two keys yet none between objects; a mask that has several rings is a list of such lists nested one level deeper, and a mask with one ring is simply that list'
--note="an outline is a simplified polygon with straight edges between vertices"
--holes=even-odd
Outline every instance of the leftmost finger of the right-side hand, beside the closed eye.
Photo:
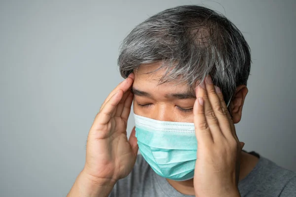
[{"label": "leftmost finger of the right-side hand, beside the closed eye", "polygon": [[193,105],[193,122],[195,128],[195,135],[197,143],[212,143],[213,136],[210,131],[204,110],[204,99],[203,97],[198,97],[200,86],[195,88],[196,100]]}]

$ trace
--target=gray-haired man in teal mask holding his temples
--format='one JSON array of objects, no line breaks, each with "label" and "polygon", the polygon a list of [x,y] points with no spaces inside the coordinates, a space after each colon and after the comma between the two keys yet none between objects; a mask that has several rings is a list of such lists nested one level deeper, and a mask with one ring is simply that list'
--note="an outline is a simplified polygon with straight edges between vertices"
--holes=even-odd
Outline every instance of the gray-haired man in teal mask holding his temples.
[{"label": "gray-haired man in teal mask holding his temples", "polygon": [[242,151],[234,124],[251,55],[224,16],[194,5],[164,10],[125,38],[118,65],[126,80],[94,120],[69,197],[296,196],[295,172]]}]

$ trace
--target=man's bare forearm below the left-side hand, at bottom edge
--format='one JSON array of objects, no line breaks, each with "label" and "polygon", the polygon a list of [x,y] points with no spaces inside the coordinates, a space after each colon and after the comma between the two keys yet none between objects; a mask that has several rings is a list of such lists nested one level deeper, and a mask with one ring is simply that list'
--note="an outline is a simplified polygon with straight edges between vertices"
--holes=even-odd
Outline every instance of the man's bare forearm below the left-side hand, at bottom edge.
[{"label": "man's bare forearm below the left-side hand, at bottom edge", "polygon": [[67,197],[108,197],[114,184],[115,182],[94,180],[81,171]]}]

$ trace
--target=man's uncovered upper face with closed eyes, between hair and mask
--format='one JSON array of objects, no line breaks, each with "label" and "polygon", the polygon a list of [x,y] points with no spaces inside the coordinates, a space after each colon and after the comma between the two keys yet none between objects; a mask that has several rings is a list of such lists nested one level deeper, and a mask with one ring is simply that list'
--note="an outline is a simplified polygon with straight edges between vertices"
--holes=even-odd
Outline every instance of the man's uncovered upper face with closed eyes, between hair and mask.
[{"label": "man's uncovered upper face with closed eyes, between hair and mask", "polygon": [[165,70],[147,74],[158,66],[159,63],[139,66],[135,71],[134,113],[160,121],[193,123],[194,92],[178,81],[159,85]]}]

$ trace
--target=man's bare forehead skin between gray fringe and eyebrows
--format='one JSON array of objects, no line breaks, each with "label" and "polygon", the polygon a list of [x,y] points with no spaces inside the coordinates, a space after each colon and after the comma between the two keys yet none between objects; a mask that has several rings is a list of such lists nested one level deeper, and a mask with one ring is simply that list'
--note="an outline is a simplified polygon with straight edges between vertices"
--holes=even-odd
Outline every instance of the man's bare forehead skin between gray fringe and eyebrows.
[{"label": "man's bare forehead skin between gray fringe and eyebrows", "polygon": [[135,80],[134,87],[137,89],[145,89],[151,91],[162,91],[162,92],[186,92],[190,88],[186,82],[181,82],[181,80],[169,81],[166,83],[160,84],[160,79],[163,77],[167,68],[162,68],[155,71],[159,68],[161,63],[150,63],[145,65],[140,65],[137,70],[135,70]]}]

